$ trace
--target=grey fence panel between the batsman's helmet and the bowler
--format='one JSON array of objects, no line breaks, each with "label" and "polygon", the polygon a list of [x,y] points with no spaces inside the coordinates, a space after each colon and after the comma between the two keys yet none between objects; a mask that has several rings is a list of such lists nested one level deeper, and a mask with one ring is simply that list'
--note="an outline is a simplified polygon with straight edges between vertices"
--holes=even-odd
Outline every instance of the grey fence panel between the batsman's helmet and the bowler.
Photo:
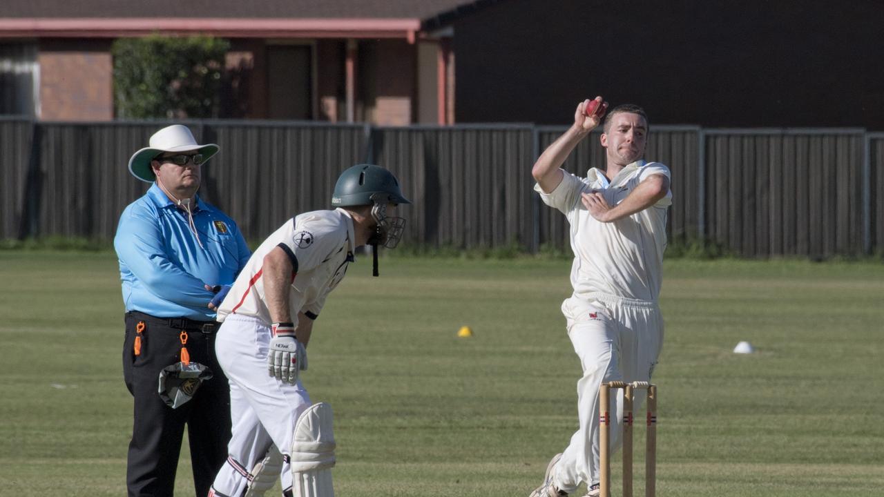
[{"label": "grey fence panel between the batsman's helmet and the bowler", "polygon": [[377,163],[400,176],[408,240],[431,247],[530,248],[530,126],[378,128]]}]

